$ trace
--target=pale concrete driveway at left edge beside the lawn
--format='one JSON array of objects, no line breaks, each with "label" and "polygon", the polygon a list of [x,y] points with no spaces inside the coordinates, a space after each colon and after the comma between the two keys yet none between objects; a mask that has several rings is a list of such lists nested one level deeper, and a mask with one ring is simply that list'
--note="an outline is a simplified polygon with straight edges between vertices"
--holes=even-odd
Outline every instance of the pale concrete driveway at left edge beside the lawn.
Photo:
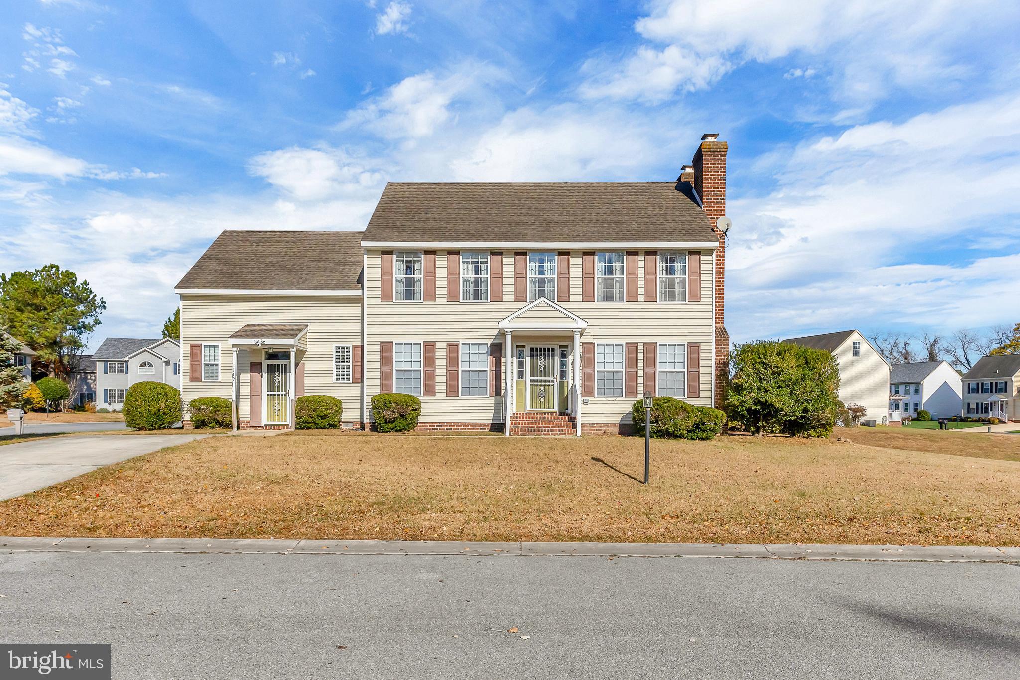
[{"label": "pale concrete driveway at left edge beside the lawn", "polygon": [[[109,424],[109,423],[83,423]],[[208,434],[67,436],[0,447],[0,501]]]}]

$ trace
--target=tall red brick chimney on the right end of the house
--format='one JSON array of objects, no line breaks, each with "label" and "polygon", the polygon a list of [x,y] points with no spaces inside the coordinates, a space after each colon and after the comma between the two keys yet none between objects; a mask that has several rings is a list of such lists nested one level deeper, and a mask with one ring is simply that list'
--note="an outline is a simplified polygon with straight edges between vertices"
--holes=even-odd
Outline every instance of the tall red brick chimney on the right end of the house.
[{"label": "tall red brick chimney on the right end of the house", "polygon": [[716,406],[722,404],[722,385],[728,377],[729,333],[724,325],[723,310],[726,282],[726,239],[717,227],[720,217],[726,214],[726,152],[729,146],[719,141],[718,134],[702,135],[701,146],[695,152],[691,165],[684,165],[680,177],[688,167],[695,191],[702,202],[702,209],[708,215],[712,230],[719,240],[715,252],[715,377]]}]

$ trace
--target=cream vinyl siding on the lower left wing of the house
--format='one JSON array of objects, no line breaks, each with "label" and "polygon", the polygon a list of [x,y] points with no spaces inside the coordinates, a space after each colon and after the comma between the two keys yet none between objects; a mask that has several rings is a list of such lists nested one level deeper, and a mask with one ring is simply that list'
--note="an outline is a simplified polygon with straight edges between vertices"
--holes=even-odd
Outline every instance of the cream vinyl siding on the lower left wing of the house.
[{"label": "cream vinyl siding on the lower left wing of the house", "polygon": [[[307,323],[298,350],[305,364],[305,394],[328,395],[344,403],[344,422],[361,422],[361,384],[335,382],[334,345],[361,345],[361,299],[329,297],[182,296],[181,396],[187,409],[196,397],[231,398],[232,348],[230,335],[246,323]],[[219,380],[192,382],[189,348],[193,343],[219,344]],[[377,348],[376,348],[377,352]],[[238,351],[240,420],[249,420],[249,363],[262,361],[262,351]],[[377,378],[376,378],[377,380]],[[261,408],[261,404],[256,405]]]}]

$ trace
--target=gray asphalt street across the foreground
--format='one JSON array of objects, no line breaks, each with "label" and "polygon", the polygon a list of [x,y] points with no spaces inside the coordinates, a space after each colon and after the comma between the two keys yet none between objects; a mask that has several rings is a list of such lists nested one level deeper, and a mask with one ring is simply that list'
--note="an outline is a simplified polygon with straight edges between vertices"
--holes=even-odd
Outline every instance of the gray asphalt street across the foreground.
[{"label": "gray asphalt street across the foreground", "polygon": [[0,554],[0,595],[5,642],[110,642],[115,678],[1020,668],[1020,568],[1006,564],[21,552]]}]

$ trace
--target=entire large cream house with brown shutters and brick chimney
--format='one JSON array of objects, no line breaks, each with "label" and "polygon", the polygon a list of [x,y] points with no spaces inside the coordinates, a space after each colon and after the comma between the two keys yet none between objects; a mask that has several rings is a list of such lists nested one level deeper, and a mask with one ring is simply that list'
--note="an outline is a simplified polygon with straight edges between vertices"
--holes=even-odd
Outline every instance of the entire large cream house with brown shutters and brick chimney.
[{"label": "entire large cream house with brown shutters and brick chimney", "polygon": [[285,428],[327,395],[364,426],[373,395],[407,393],[419,429],[506,434],[627,430],[645,390],[711,406],[717,137],[676,181],[390,184],[364,232],[224,231],[176,287],[185,403]]}]

